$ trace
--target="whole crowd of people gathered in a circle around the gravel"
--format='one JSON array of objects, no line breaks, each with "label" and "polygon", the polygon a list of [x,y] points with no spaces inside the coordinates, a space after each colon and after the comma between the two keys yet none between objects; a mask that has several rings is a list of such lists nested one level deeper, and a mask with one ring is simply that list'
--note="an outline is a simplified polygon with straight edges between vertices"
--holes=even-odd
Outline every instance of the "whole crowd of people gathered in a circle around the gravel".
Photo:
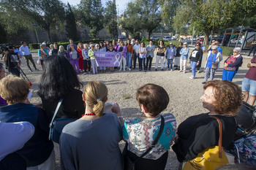
[{"label": "whole crowd of people gathered in a circle around the gravel", "polygon": [[[55,145],[60,149],[61,169],[126,169],[129,166],[126,158],[136,162],[135,169],[165,169],[168,150],[172,145],[178,161],[187,167],[208,147],[217,146],[220,136],[222,147],[225,150],[233,149],[237,131],[236,113],[241,108],[242,100],[255,104],[256,57],[247,64],[249,71],[242,88],[232,82],[242,63],[239,48],[235,48],[233,55],[225,61],[223,80],[214,80],[222,54],[217,42],[213,42],[208,48],[204,94],[200,98],[208,112],[189,117],[176,127],[173,114],[163,113],[170,98],[159,85],[149,83],[138,88],[136,100],[142,115],[133,118],[124,118],[116,103],[113,103],[111,112],[105,112],[108,88],[103,82],[88,82],[85,90],[80,90],[83,84],[78,79],[78,74],[83,71],[86,73],[87,69],[90,72],[91,67],[92,72],[97,73],[94,56],[96,50],[122,52],[120,70],[135,69],[137,58],[141,71],[151,70],[156,48],[153,42],[148,46],[138,40],[132,39],[132,42],[134,44],[127,40],[128,45],[124,45],[122,41],[116,43],[113,40],[113,43],[106,42],[105,45],[100,42],[99,45],[79,43],[77,46],[71,39],[67,51],[63,46],[58,49],[56,44],[50,45],[51,49],[47,50],[42,43],[38,50],[42,77],[37,92],[42,103],[37,105],[29,103],[29,84],[18,74],[22,55],[14,53],[15,47],[4,50],[3,60],[15,76],[4,77],[4,74],[0,74],[0,136],[4,139],[0,140],[0,169],[55,169],[54,145],[52,139],[48,138],[50,120],[54,119],[55,114],[56,118],[77,119],[63,128],[59,145]],[[26,43],[22,47],[26,49]],[[184,45],[179,43],[176,49],[172,43],[165,48],[164,42],[160,40],[155,71],[159,61],[161,70],[164,69],[166,59],[167,70],[172,71],[176,67],[179,72],[185,73],[189,60],[192,67],[190,78],[195,79],[196,69],[200,68],[202,62],[203,50],[205,48],[197,42],[189,56],[186,42]],[[29,50],[23,50],[25,54],[29,54],[28,52]],[[28,66],[31,58],[29,55],[24,55],[28,58]],[[14,57],[17,60],[13,60]],[[18,72],[13,71],[13,68]],[[4,66],[1,64],[0,71],[2,70]],[[106,72],[103,66],[99,70]],[[110,71],[113,70],[114,68],[110,68]],[[222,134],[219,133],[217,120],[222,123]],[[118,145],[122,139],[126,142],[126,152],[123,155]],[[140,158],[142,155],[143,158]]]}]

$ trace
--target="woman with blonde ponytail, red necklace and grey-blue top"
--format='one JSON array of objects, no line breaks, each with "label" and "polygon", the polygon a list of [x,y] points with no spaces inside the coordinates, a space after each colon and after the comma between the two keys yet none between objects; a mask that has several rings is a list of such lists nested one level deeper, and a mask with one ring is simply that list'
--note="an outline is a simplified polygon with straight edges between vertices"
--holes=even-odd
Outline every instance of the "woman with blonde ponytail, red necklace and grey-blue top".
[{"label": "woman with blonde ponytail, red necklace and grey-blue top", "polygon": [[61,134],[61,169],[123,169],[118,147],[122,139],[118,120],[122,118],[118,117],[121,109],[114,104],[112,112],[105,113],[107,100],[105,84],[93,81],[86,85],[83,117],[66,125]]}]

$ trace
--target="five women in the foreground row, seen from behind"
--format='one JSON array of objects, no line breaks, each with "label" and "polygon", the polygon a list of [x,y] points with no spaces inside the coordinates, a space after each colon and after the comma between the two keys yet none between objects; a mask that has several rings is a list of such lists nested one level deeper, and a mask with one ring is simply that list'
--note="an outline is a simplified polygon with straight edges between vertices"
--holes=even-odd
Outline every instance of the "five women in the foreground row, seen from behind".
[{"label": "five women in the foreground row, seen from behind", "polygon": [[[113,50],[112,46],[109,45]],[[91,45],[89,56],[93,50]],[[28,169],[55,169],[53,142],[48,139],[48,132],[61,99],[63,102],[56,117],[78,118],[62,131],[59,142],[61,169],[123,169],[127,161],[122,161],[118,145],[121,139],[127,143],[127,157],[136,162],[138,170],[165,169],[173,142],[178,161],[186,164],[208,147],[218,145],[221,134],[217,119],[222,123],[222,146],[228,149],[232,144],[236,132],[235,115],[242,100],[241,88],[233,82],[206,82],[200,99],[208,112],[187,118],[178,130],[176,118],[171,113],[163,113],[170,98],[159,85],[146,84],[138,88],[135,98],[143,114],[125,119],[116,103],[113,103],[112,112],[105,112],[108,88],[103,82],[89,82],[83,92],[79,90],[82,86],[72,64],[59,55],[44,61],[38,91],[42,109],[25,103],[29,86],[23,79],[8,76],[0,81],[0,95],[9,104],[0,107],[0,123],[27,121],[35,129],[29,132],[34,133],[31,139],[26,139],[29,141],[18,150]]]}]

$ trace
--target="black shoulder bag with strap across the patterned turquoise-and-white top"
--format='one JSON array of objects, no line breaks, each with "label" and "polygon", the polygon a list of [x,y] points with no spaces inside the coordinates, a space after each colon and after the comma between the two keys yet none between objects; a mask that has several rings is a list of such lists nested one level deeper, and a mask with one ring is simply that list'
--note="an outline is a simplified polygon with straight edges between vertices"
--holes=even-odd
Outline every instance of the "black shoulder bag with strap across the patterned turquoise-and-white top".
[{"label": "black shoulder bag with strap across the patterned turquoise-and-white top", "polygon": [[154,142],[152,142],[151,147],[149,147],[148,150],[146,150],[146,152],[144,152],[143,155],[140,155],[140,157],[138,157],[135,161],[132,161],[132,159],[129,158],[128,150],[127,150],[128,143],[126,142],[124,150],[122,152],[122,155],[124,158],[124,170],[135,170],[136,163],[138,161],[140,161],[141,158],[143,158],[145,155],[147,155],[148,152],[150,152],[155,147],[155,145],[157,144],[160,136],[162,135],[162,131],[164,130],[164,127],[165,127],[165,118],[162,115],[160,115],[160,116],[161,116],[161,125],[160,125],[160,129],[159,129],[156,139],[154,139]]}]

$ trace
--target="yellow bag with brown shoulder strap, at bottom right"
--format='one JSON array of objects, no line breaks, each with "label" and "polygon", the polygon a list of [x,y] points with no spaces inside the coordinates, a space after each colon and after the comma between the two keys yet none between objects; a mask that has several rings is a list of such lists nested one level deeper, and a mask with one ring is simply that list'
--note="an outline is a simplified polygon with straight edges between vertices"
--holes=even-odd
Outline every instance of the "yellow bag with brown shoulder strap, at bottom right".
[{"label": "yellow bag with brown shoulder strap, at bottom right", "polygon": [[219,146],[207,147],[196,158],[184,163],[183,170],[215,170],[228,164],[227,156],[222,147],[222,123],[218,117],[214,117],[219,123]]}]

